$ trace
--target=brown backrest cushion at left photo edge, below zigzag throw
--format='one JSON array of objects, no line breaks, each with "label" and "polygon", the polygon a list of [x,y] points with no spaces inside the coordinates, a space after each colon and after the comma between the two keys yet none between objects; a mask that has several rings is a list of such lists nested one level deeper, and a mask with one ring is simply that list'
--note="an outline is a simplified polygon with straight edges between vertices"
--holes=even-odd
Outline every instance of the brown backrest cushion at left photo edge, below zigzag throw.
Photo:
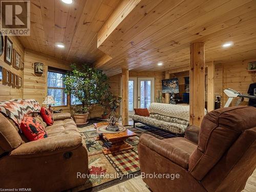
[{"label": "brown backrest cushion at left photo edge, below zigzag throw", "polygon": [[0,113],[0,155],[10,152],[23,143],[17,130],[2,113]]}]

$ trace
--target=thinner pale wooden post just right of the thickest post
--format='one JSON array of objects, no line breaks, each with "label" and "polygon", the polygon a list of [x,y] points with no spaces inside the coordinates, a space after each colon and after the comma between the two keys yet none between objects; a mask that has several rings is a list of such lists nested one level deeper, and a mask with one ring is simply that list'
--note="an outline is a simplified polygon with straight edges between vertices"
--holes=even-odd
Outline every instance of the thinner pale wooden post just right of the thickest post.
[{"label": "thinner pale wooden post just right of the thickest post", "polygon": [[214,61],[207,62],[207,111],[214,110],[214,76],[215,76],[215,67]]}]

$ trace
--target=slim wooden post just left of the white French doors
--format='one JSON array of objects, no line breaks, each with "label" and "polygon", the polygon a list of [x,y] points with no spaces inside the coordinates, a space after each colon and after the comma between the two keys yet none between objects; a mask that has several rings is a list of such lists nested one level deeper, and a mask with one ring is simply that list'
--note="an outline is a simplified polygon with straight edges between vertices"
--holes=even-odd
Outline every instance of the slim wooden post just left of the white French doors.
[{"label": "slim wooden post just left of the white French doors", "polygon": [[122,125],[129,125],[128,83],[129,70],[122,69]]}]

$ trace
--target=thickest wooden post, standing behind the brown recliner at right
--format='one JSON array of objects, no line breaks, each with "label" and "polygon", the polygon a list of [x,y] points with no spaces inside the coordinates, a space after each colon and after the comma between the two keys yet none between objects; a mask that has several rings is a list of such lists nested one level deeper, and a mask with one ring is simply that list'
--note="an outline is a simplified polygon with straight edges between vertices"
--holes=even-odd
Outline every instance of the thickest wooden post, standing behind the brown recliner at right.
[{"label": "thickest wooden post, standing behind the brown recliner at right", "polygon": [[190,45],[189,106],[190,125],[200,126],[205,104],[205,57],[204,42]]}]

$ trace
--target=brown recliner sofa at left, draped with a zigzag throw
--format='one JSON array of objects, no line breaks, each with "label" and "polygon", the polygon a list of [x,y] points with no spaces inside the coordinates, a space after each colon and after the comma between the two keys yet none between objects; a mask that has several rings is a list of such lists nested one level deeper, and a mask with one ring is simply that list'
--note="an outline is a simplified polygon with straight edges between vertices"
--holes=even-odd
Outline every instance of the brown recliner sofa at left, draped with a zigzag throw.
[{"label": "brown recliner sofa at left, draped with a zigzag throw", "polygon": [[86,183],[77,178],[77,172],[88,173],[88,152],[75,122],[69,113],[53,118],[54,124],[45,127],[48,138],[29,142],[0,113],[1,188],[61,191]]}]

